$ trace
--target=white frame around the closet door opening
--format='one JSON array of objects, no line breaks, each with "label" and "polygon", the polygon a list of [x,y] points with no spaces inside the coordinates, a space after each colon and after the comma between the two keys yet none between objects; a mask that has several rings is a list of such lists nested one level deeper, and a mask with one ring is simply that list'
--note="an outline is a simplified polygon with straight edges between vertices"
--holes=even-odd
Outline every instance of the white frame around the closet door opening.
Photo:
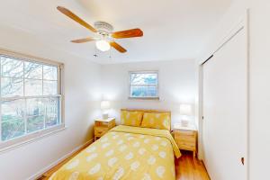
[{"label": "white frame around the closet door opening", "polygon": [[198,70],[198,104],[197,104],[197,119],[198,119],[198,158],[203,161],[204,158],[204,151],[203,151],[203,139],[202,139],[202,66],[207,61],[210,60],[214,54],[221,49],[229,40],[231,40],[235,35],[238,34],[239,31],[245,31],[245,44],[246,44],[246,58],[247,58],[247,123],[245,124],[245,133],[246,133],[246,157],[245,157],[245,167],[246,167],[246,176],[247,180],[249,179],[249,10],[247,9],[244,12],[244,15],[240,18],[238,23],[234,25],[229,32],[220,39],[220,43],[217,43],[217,45],[214,47],[214,49],[211,49],[209,52],[209,58],[204,58],[197,64],[197,70]]}]

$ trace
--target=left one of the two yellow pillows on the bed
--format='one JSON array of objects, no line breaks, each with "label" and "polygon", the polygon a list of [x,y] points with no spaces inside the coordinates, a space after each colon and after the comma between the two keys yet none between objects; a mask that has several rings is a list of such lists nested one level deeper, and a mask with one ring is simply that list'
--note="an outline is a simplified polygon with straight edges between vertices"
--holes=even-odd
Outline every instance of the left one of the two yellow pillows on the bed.
[{"label": "left one of the two yellow pillows on the bed", "polygon": [[127,126],[140,126],[143,112],[121,111],[121,124]]}]

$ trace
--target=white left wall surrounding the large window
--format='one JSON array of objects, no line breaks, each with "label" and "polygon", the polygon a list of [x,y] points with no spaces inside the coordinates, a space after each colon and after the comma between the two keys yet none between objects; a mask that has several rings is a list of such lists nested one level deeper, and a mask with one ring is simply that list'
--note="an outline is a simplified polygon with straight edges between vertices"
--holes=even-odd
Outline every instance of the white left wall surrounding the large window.
[{"label": "white left wall surrounding the large window", "polygon": [[67,129],[0,154],[0,179],[23,180],[93,138],[100,107],[100,65],[50,49],[32,34],[0,26],[0,47],[65,64]]}]

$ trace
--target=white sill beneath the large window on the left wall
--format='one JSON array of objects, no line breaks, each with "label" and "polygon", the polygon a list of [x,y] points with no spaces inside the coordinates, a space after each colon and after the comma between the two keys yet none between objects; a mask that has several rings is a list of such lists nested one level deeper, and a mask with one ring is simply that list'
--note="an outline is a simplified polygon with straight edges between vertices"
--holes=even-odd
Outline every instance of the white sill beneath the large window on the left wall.
[{"label": "white sill beneath the large window on the left wall", "polygon": [[47,130],[40,130],[33,132],[31,134],[25,135],[23,137],[17,138],[17,139],[11,139],[8,141],[4,141],[0,143],[0,154],[13,150],[15,148],[20,148],[23,145],[30,144],[34,141],[37,141],[39,139],[46,138],[52,134],[58,133],[59,131],[66,130],[67,127],[65,124],[60,124],[58,126],[49,128]]}]

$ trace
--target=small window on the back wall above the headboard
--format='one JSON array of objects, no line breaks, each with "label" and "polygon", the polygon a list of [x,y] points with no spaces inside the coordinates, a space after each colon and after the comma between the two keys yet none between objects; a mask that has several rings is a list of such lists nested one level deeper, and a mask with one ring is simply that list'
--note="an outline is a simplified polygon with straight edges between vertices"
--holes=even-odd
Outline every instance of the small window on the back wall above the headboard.
[{"label": "small window on the back wall above the headboard", "polygon": [[157,71],[130,72],[130,97],[158,99]]}]

